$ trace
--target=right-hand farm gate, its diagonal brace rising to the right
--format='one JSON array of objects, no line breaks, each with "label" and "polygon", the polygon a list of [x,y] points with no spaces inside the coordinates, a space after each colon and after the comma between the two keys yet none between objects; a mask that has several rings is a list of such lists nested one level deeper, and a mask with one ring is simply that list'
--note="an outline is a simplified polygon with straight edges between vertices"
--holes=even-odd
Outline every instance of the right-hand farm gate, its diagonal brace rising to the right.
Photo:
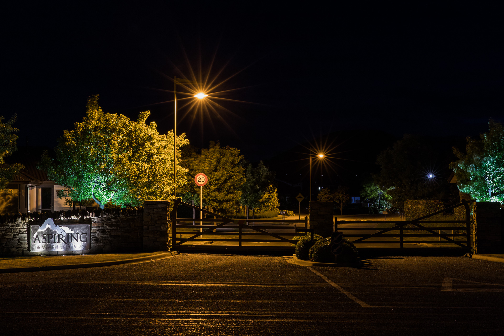
[{"label": "right-hand farm gate, its diagonal brace rising to the right", "polygon": [[[335,230],[351,240],[360,255],[462,255],[471,248],[469,204],[462,202],[411,221],[338,221]],[[464,207],[465,220],[426,220]],[[367,225],[364,225],[367,224]],[[376,227],[379,226],[379,227]]]}]

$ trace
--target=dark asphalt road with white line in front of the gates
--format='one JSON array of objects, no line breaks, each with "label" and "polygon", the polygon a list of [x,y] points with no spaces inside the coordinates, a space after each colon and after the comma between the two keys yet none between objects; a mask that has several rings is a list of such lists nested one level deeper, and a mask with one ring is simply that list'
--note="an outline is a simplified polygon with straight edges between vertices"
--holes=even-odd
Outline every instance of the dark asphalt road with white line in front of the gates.
[{"label": "dark asphalt road with white line in front of the gates", "polygon": [[0,274],[0,333],[482,335],[504,327],[504,263],[394,257],[310,268],[289,260],[182,254]]}]

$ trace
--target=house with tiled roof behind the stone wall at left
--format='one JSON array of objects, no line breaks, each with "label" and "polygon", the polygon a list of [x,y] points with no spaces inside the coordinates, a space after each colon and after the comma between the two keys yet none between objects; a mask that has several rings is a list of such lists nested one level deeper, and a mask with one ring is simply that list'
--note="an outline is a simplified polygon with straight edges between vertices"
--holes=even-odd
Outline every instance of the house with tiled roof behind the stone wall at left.
[{"label": "house with tiled roof behind the stone wall at left", "polygon": [[35,163],[25,164],[25,169],[14,176],[7,188],[9,192],[0,194],[2,215],[74,209],[73,205],[65,205],[65,197],[60,199],[56,194],[65,187],[50,181]]}]

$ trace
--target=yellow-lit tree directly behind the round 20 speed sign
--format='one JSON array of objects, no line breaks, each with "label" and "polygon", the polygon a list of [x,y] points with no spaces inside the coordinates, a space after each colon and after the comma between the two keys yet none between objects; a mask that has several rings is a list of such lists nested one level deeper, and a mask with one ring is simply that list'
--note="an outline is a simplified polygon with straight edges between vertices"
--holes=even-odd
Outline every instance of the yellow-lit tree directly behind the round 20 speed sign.
[{"label": "yellow-lit tree directly behind the round 20 speed sign", "polygon": [[[184,154],[183,166],[189,169],[189,176],[194,179],[198,173],[208,177],[208,183],[203,187],[203,202],[212,207],[214,212],[227,213],[232,211],[241,196],[241,185],[244,182],[244,168],[240,165],[243,155],[236,148],[221,147],[217,142],[210,142],[208,149],[202,149],[198,154],[193,148]],[[193,151],[191,153],[191,151]],[[198,194],[200,188],[191,184],[191,193]]]}]

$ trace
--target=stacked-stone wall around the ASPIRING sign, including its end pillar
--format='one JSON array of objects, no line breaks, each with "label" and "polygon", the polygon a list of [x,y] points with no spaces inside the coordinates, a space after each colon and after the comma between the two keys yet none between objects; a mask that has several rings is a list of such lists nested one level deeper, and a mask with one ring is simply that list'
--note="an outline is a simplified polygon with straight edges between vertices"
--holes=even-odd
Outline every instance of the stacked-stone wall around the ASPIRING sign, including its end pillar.
[{"label": "stacked-stone wall around the ASPIRING sign, including its end pillar", "polygon": [[91,224],[91,249],[45,252],[81,254],[135,251],[166,251],[168,243],[166,200],[146,201],[144,208],[93,209],[0,216],[0,256],[40,255],[28,250],[30,225],[52,218],[57,225]]}]

